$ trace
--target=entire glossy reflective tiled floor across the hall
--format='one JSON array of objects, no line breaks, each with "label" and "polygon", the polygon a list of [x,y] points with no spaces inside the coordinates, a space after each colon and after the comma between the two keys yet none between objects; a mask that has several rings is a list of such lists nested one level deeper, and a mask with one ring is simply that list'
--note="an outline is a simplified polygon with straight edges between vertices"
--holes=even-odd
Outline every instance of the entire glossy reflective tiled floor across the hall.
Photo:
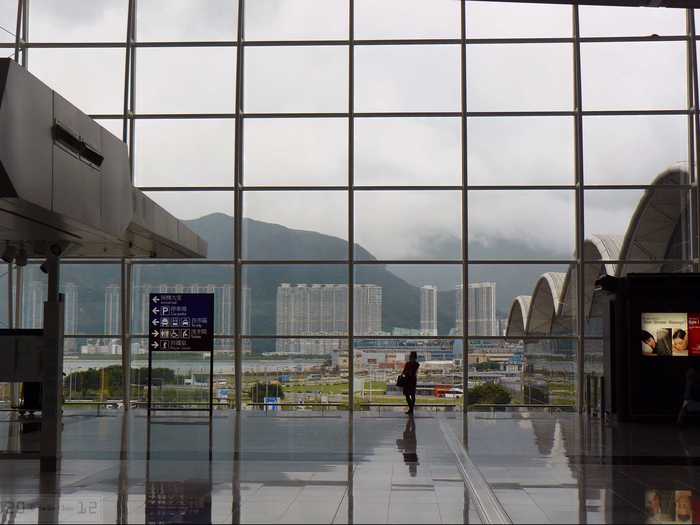
[{"label": "entire glossy reflective tiled floor across the hall", "polygon": [[700,428],[221,412],[210,432],[206,417],[115,410],[67,414],[54,475],[39,472],[37,422],[0,415],[0,523],[476,523],[465,435],[513,523],[700,521]]}]

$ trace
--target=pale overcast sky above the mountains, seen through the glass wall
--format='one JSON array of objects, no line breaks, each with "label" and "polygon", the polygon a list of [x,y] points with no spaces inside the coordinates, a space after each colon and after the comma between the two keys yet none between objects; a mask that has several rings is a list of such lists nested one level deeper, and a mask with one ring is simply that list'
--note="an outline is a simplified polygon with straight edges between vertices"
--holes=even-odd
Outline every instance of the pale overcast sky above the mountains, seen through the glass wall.
[{"label": "pale overcast sky above the mountains, seen through the glass wall", "polygon": [[[32,0],[34,41],[123,41],[126,0]],[[233,40],[237,1],[139,0],[144,41]],[[14,28],[15,0],[0,0],[0,25]],[[456,0],[356,0],[356,38],[457,38]],[[347,38],[344,0],[248,1],[250,40]],[[566,37],[571,8],[470,2],[470,37]],[[682,10],[581,7],[584,36],[679,35]],[[12,37],[0,31],[0,43]],[[6,56],[5,50],[1,50]],[[570,44],[472,45],[467,51],[468,109],[572,110]],[[582,45],[585,109],[684,109],[685,44]],[[142,113],[231,113],[234,48],[140,49],[136,108]],[[89,113],[123,109],[122,49],[32,49],[30,69]],[[348,49],[255,47],[246,51],[247,112],[346,112]],[[355,110],[459,111],[459,46],[360,46],[355,51]],[[120,134],[121,123],[107,127]],[[137,121],[139,185],[230,186],[233,121]],[[347,184],[344,119],[254,119],[245,127],[250,185]],[[591,184],[650,183],[687,161],[683,116],[587,117],[584,169]],[[357,119],[358,185],[459,185],[459,119]],[[573,184],[570,117],[470,118],[471,184]],[[622,234],[640,192],[589,192],[588,233]],[[230,193],[154,195],[181,218],[231,214]],[[378,257],[414,257],[423,236],[459,237],[460,193],[357,193],[356,240]],[[528,240],[570,253],[572,191],[469,195],[474,240]],[[306,192],[247,194],[246,216],[347,238],[347,196]]]}]

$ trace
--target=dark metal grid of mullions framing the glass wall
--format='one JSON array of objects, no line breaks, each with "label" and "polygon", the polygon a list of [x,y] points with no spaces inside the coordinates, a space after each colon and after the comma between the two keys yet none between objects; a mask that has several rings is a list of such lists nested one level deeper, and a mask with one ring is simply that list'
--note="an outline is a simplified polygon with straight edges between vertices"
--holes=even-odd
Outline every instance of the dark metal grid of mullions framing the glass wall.
[{"label": "dark metal grid of mullions framing the glass wall", "polygon": [[[286,336],[264,336],[246,335],[241,333],[241,287],[244,281],[243,271],[246,266],[255,265],[345,265],[348,269],[348,285],[354,284],[355,266],[372,264],[392,264],[392,265],[451,265],[462,266],[462,283],[469,282],[470,266],[478,265],[566,265],[573,269],[576,277],[578,289],[583,286],[583,268],[590,264],[648,264],[648,260],[588,260],[583,256],[583,243],[585,241],[585,197],[589,191],[618,191],[618,190],[663,190],[663,191],[688,191],[691,193],[693,221],[690,225],[691,231],[696,232],[693,236],[694,242],[691,246],[690,258],[688,259],[658,259],[654,262],[679,263],[693,265],[696,270],[700,270],[700,250],[698,246],[697,232],[700,232],[700,185],[698,181],[697,159],[700,158],[700,144],[697,137],[700,136],[700,108],[698,107],[698,36],[695,32],[695,12],[693,9],[686,9],[686,33],[662,36],[597,36],[587,37],[580,34],[579,8],[574,4],[570,6],[572,16],[572,34],[570,37],[542,37],[542,38],[470,38],[467,33],[467,17],[469,16],[468,0],[460,0],[460,34],[458,38],[391,38],[391,39],[356,39],[354,35],[354,0],[346,0],[348,8],[348,36],[347,39],[299,39],[299,40],[246,40],[245,38],[245,4],[246,0],[232,0],[238,2],[237,15],[237,38],[236,40],[198,40],[198,41],[138,41],[136,34],[136,24],[138,19],[138,0],[124,0],[128,2],[126,38],[123,42],[33,42],[29,33],[29,1],[18,0],[17,11],[17,36],[14,44],[0,44],[3,49],[15,49],[15,57],[25,67],[29,64],[29,50],[35,49],[80,49],[80,48],[117,48],[124,49],[126,53],[124,70],[124,104],[122,114],[96,114],[94,118],[105,120],[121,120],[123,123],[122,138],[130,148],[130,164],[134,168],[134,148],[135,148],[135,123],[137,120],[194,120],[194,119],[231,119],[235,121],[235,138],[233,147],[235,150],[234,176],[232,186],[144,186],[141,189],[149,192],[229,192],[233,198],[234,209],[234,254],[232,259],[223,260],[145,260],[145,259],[91,259],[73,261],[66,260],[66,264],[120,264],[122,268],[122,333],[114,334],[121,337],[124,363],[131,362],[131,341],[139,340],[145,336],[131,334],[130,301],[132,288],[132,272],[134,267],[151,264],[206,264],[206,265],[227,265],[231,266],[234,282],[234,334],[216,336],[218,339],[229,339],[234,341],[235,348],[235,381],[236,381],[236,409],[241,409],[242,390],[242,350],[241,342],[246,339],[270,339],[286,338]],[[581,81],[581,45],[588,43],[635,43],[635,42],[685,42],[687,54],[687,93],[688,104],[685,108],[677,109],[632,109],[632,110],[586,110],[583,107]],[[573,80],[574,80],[574,102],[571,110],[566,111],[468,111],[467,97],[468,88],[466,84],[468,50],[470,46],[504,45],[504,44],[570,44],[573,59]],[[357,46],[414,46],[414,45],[449,45],[459,46],[460,49],[460,110],[454,112],[355,112],[354,108],[354,88],[355,88],[355,55]],[[247,47],[300,47],[300,46],[339,46],[348,50],[348,107],[347,112],[337,113],[246,113],[244,110],[244,71],[245,71],[245,49]],[[212,48],[230,47],[236,49],[236,103],[233,113],[139,113],[135,111],[136,93],[136,55],[140,48]],[[651,115],[679,115],[688,119],[688,164],[691,175],[690,184],[674,186],[673,188],[658,188],[646,184],[587,184],[584,177],[583,162],[585,160],[583,148],[583,125],[586,117],[595,116],[651,116]],[[469,131],[469,119],[471,118],[517,118],[517,117],[570,117],[574,125],[574,180],[571,184],[563,185],[472,185],[469,183],[468,162],[467,162],[467,134]],[[246,119],[323,119],[337,118],[346,119],[348,123],[348,184],[342,186],[274,186],[274,185],[251,185],[247,186],[244,181],[244,129]],[[461,184],[460,185],[389,185],[389,186],[366,186],[354,184],[354,123],[356,119],[368,118],[459,118],[460,119],[460,148],[461,148]],[[566,260],[488,260],[472,259],[468,246],[468,204],[469,193],[472,191],[570,191],[575,196],[574,216],[576,233],[576,250],[572,259]],[[244,218],[244,195],[246,192],[269,192],[269,191],[337,191],[346,192],[348,199],[348,255],[344,260],[253,260],[244,257],[243,242],[243,218]],[[354,257],[354,197],[355,192],[370,191],[455,191],[461,192],[461,213],[462,213],[462,239],[461,239],[461,259],[458,260],[356,260]],[[14,306],[15,323],[20,323],[21,300],[22,300],[22,276],[21,269],[17,272],[15,300],[11,303]],[[12,278],[12,277],[11,277]],[[349,296],[349,326],[353,326],[353,294]],[[464,351],[468,354],[469,342],[475,340],[575,340],[577,342],[576,356],[576,388],[577,402],[579,410],[583,408],[582,385],[584,376],[584,356],[583,348],[587,340],[596,340],[596,337],[585,334],[585,319],[582,315],[584,311],[583,294],[577,297],[577,333],[572,336],[547,336],[547,337],[525,337],[525,338],[505,338],[504,336],[474,336],[468,333],[468,294],[463,293],[463,326],[460,336],[438,336],[438,337],[400,337],[400,336],[361,336],[349,330],[344,336],[327,336],[330,339],[347,340],[348,349],[352,353],[354,339],[423,339],[423,340],[462,340]],[[66,335],[67,338],[99,338],[99,335]],[[105,336],[109,338],[111,336]],[[326,336],[289,336],[292,339],[308,338],[319,339]],[[465,354],[465,357],[466,357]],[[354,366],[353,359],[349,359],[349,399],[353,399]],[[125,365],[126,366],[126,365]],[[463,367],[463,381],[468,382],[467,367]],[[128,406],[128,403],[125,404]],[[352,403],[351,403],[352,410]],[[466,406],[466,404],[465,404]],[[466,410],[466,408],[465,408]]]}]

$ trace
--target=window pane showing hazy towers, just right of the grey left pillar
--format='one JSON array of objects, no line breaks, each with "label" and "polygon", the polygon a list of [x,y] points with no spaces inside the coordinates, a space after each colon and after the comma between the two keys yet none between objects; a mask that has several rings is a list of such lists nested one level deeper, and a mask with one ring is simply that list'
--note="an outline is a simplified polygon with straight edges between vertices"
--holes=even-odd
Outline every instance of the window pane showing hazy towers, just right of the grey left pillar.
[{"label": "window pane showing hazy towers, just right of the grey left pillar", "polygon": [[121,267],[62,264],[66,335],[121,334]]}]

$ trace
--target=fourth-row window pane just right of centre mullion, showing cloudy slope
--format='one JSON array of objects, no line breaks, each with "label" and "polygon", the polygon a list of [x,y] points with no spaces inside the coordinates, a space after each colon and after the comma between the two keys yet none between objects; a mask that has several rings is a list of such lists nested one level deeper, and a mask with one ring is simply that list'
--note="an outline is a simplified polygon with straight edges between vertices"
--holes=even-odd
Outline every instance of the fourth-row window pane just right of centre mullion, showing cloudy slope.
[{"label": "fourth-row window pane just right of centre mullion, showing cloudy slope", "polygon": [[459,191],[356,191],[355,259],[459,260]]}]

